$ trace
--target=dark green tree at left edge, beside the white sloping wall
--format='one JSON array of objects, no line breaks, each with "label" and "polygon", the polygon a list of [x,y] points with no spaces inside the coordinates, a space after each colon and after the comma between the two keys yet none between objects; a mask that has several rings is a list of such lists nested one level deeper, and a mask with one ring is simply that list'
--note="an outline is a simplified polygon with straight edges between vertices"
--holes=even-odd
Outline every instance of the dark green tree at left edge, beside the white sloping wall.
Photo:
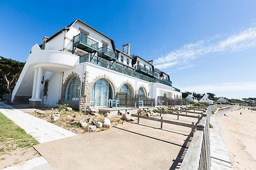
[{"label": "dark green tree at left edge, beside the white sloping wall", "polygon": [[0,56],[0,94],[12,93],[24,64],[24,62]]}]

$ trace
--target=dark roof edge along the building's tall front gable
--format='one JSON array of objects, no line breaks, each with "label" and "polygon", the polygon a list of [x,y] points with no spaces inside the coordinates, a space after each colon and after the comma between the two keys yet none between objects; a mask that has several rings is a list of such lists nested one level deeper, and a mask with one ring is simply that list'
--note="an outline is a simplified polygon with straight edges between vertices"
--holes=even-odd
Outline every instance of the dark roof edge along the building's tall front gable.
[{"label": "dark roof edge along the building's tall front gable", "polygon": [[89,27],[90,29],[92,29],[93,31],[96,31],[98,32],[99,34],[101,34],[102,36],[110,39],[111,41],[111,44],[113,46],[113,49],[115,50],[116,47],[115,47],[115,42],[113,41],[113,39],[109,38],[108,36],[102,34],[101,32],[97,31],[96,29],[94,29],[93,27],[91,27],[90,25],[86,24],[85,22],[83,22],[82,20],[79,20],[78,18],[76,18],[76,20],[74,20],[74,22],[70,23],[69,25],[67,25],[67,27],[64,27],[63,29],[61,29],[60,31],[56,32],[55,34],[53,34],[50,38],[47,39],[46,43],[51,41],[51,39],[55,38],[56,36],[58,36],[59,34],[61,34],[61,32],[63,31],[69,31],[70,27],[74,24],[76,24],[76,22],[80,22],[81,24],[85,25],[86,27]]}]

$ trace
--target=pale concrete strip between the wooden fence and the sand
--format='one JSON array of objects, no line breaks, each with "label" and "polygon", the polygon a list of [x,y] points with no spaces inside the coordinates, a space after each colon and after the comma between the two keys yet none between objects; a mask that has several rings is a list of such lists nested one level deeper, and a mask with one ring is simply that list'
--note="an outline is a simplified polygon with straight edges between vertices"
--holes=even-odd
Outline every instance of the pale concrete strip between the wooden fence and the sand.
[{"label": "pale concrete strip between the wooden fence and the sand", "polygon": [[210,143],[211,143],[211,169],[232,169],[230,155],[228,153],[225,142],[221,136],[220,124],[218,117],[228,115],[230,110],[216,111],[212,115],[210,123],[213,128],[210,129]]}]

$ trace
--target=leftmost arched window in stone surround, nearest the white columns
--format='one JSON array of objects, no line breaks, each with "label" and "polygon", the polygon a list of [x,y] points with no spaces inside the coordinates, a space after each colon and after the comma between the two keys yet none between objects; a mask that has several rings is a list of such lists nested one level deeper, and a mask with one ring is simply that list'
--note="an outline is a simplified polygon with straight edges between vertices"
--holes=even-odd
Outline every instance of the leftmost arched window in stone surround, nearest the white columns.
[{"label": "leftmost arched window in stone surround, nearest the white columns", "polygon": [[79,101],[80,94],[80,80],[76,77],[70,80],[67,86],[66,100],[67,101]]}]

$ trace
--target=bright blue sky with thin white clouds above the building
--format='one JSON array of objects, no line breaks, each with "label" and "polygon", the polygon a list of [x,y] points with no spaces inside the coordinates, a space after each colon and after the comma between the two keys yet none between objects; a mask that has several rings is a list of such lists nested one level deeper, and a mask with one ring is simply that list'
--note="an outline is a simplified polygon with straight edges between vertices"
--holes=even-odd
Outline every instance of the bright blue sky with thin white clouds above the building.
[{"label": "bright blue sky with thin white clouds above the building", "polygon": [[76,18],[170,74],[182,92],[256,97],[256,1],[0,1],[0,55],[25,62]]}]

